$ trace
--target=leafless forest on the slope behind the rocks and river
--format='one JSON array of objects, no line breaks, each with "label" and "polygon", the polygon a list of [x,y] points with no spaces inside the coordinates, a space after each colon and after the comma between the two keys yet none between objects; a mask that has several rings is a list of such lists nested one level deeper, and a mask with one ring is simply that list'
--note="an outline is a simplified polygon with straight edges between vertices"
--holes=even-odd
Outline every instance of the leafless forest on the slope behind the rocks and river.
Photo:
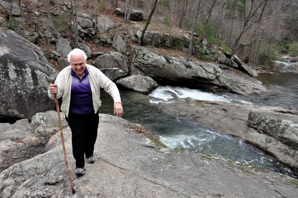
[{"label": "leafless forest on the slope behind the rocks and river", "polygon": [[[32,25],[34,0],[7,0],[25,3],[27,26]],[[144,11],[148,18],[155,0],[68,0],[77,11],[88,10],[96,18],[116,7]],[[53,10],[60,0],[41,0]],[[55,9],[59,9],[56,6]],[[245,63],[271,66],[281,53],[298,56],[298,0],[158,0],[150,24],[191,31],[195,9],[195,37],[205,38]],[[31,10],[30,10],[31,9]],[[54,10],[55,11],[55,10]],[[69,27],[71,13],[55,16],[53,22]],[[31,18],[31,20],[30,20]],[[53,18],[53,17],[52,17]],[[31,23],[31,25],[30,25]],[[29,25],[28,25],[29,24]],[[142,24],[142,23],[139,23]],[[35,25],[40,28],[40,26]],[[60,28],[60,27],[59,27]],[[158,30],[158,29],[157,29]]]}]

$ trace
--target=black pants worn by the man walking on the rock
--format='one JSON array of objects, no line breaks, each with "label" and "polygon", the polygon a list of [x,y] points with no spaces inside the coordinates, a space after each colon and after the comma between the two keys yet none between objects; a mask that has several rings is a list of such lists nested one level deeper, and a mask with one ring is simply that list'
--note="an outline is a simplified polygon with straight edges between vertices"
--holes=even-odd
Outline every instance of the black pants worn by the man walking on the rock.
[{"label": "black pants worn by the man walking on the rock", "polygon": [[84,155],[86,157],[93,155],[99,122],[98,113],[74,114],[70,112],[66,121],[72,130],[75,166],[82,168],[85,165]]}]

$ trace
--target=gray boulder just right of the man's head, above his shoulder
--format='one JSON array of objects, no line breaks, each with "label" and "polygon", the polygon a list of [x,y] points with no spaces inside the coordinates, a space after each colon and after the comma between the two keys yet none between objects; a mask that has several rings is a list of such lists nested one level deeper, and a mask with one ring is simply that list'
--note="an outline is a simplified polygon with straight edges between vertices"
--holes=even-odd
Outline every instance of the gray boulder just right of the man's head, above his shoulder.
[{"label": "gray boulder just right of the man's head, above his shoulder", "polygon": [[107,54],[98,56],[94,61],[93,65],[98,68],[113,68],[118,67],[128,72],[128,66],[125,57],[119,52],[108,52]]}]

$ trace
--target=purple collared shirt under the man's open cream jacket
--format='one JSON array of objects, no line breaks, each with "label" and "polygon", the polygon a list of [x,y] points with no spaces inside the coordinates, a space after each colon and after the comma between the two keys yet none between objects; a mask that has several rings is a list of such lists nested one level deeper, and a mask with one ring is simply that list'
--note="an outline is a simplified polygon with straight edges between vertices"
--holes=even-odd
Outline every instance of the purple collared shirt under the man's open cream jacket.
[{"label": "purple collared shirt under the man's open cream jacket", "polygon": [[75,114],[89,114],[93,111],[92,91],[89,82],[88,69],[85,67],[85,74],[82,79],[79,79],[72,68],[70,112]]}]

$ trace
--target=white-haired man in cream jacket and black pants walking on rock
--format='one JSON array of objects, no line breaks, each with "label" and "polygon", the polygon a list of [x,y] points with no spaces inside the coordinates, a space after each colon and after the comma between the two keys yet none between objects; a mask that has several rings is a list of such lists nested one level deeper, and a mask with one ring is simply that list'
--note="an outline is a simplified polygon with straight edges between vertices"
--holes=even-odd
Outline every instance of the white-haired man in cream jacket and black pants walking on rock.
[{"label": "white-haired man in cream jacket and black pants walking on rock", "polygon": [[87,56],[80,49],[72,50],[68,55],[70,66],[57,76],[55,84],[49,86],[49,97],[53,94],[62,98],[61,110],[72,131],[75,175],[83,175],[84,156],[88,163],[95,162],[93,154],[98,128],[98,108],[100,107],[100,87],[114,100],[114,114],[121,117],[123,108],[117,86],[98,68],[86,64]]}]

